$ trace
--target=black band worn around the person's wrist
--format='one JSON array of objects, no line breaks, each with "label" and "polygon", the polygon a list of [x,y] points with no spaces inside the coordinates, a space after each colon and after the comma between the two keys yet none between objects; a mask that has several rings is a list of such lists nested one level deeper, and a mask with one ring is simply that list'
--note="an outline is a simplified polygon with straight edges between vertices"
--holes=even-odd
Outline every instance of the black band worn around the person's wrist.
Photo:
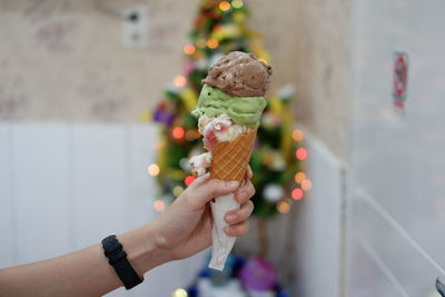
[{"label": "black band worn around the person's wrist", "polygon": [[116,235],[110,235],[102,240],[103,254],[108,258],[108,263],[115,268],[116,274],[122,280],[126,289],[139,285],[144,281],[127,259],[127,253],[122,249],[122,245],[116,238]]}]

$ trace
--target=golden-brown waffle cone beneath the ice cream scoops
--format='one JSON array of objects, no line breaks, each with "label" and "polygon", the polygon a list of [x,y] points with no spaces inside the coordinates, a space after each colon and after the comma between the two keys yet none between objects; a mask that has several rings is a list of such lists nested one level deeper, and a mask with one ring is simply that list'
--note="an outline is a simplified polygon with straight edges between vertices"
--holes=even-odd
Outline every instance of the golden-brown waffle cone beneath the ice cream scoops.
[{"label": "golden-brown waffle cone beneath the ice cream scoops", "polygon": [[243,182],[258,127],[248,133],[240,135],[233,141],[220,142],[211,151],[210,175],[222,180],[238,180]]}]

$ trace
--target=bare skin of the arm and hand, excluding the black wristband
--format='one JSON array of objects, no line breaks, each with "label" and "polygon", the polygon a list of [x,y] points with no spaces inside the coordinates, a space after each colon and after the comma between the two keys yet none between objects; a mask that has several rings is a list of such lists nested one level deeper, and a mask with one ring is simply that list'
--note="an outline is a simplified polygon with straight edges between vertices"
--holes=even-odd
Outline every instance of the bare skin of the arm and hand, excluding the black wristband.
[{"label": "bare skin of the arm and hand, excluding the black wristband", "polygon": [[[225,216],[229,236],[243,236],[248,230],[247,218],[254,205],[249,200],[255,189],[250,182],[238,189],[238,181],[196,179],[158,219],[118,236],[127,258],[139,276],[167,261],[184,259],[211,245],[209,201],[236,191],[239,209]],[[122,286],[103,256],[100,245],[61,257],[0,269],[0,296],[101,296]]]}]

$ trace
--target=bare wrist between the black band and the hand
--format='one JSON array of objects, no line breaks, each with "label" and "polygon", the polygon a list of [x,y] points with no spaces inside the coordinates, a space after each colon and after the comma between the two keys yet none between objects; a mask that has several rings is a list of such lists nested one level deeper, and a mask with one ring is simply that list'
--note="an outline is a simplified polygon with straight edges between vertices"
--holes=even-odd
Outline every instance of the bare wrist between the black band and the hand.
[{"label": "bare wrist between the black band and the hand", "polygon": [[156,231],[150,225],[118,236],[129,263],[140,277],[148,270],[171,260],[169,253],[158,247],[156,238]]}]

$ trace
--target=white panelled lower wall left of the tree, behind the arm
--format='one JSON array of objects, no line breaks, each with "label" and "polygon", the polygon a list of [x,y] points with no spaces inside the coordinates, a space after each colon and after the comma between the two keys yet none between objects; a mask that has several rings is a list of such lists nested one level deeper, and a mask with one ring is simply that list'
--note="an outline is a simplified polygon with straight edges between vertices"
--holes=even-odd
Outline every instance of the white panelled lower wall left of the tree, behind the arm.
[{"label": "white panelled lower wall left of the tree, behind the arm", "polygon": [[[0,123],[0,267],[99,242],[149,222],[156,194],[152,125]],[[110,296],[171,296],[204,255],[158,267]]]}]

